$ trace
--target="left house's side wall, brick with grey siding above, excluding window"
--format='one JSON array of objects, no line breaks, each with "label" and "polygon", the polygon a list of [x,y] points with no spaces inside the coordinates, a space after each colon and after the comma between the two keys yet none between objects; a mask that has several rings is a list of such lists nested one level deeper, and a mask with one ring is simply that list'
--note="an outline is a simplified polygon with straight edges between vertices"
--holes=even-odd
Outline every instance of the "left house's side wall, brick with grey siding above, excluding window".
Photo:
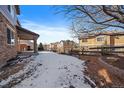
[{"label": "left house's side wall, brick with grey siding above, excluding window", "polygon": [[[0,6],[0,68],[17,55],[17,32],[14,24],[15,19],[11,19],[7,7]],[[12,45],[7,43],[7,28],[11,29],[14,35],[15,43]]]}]

